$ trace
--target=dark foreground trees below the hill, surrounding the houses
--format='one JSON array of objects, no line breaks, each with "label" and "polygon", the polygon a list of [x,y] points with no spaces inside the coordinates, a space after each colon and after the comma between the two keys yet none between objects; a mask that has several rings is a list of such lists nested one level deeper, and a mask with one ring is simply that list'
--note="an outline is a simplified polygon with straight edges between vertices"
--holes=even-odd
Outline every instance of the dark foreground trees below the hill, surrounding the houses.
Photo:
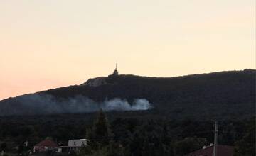
[{"label": "dark foreground trees below the hill, surrounding the houses", "polygon": [[[100,111],[94,118],[31,116],[0,118],[1,150],[23,153],[50,136],[60,145],[69,139],[90,143],[73,155],[186,155],[213,143],[214,121],[166,118],[111,118]],[[28,141],[28,147],[23,143]],[[237,155],[255,155],[255,118],[220,121],[218,143],[236,146]]]}]

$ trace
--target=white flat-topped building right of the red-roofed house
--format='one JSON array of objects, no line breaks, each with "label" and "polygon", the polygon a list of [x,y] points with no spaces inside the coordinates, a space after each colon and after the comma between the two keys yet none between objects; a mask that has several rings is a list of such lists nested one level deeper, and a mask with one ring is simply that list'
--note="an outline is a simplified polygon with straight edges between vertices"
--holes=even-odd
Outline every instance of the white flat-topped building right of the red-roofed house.
[{"label": "white flat-topped building right of the red-roofed house", "polygon": [[87,139],[76,139],[76,140],[68,140],[68,146],[62,146],[63,152],[79,152],[80,149],[84,146],[87,146]]}]

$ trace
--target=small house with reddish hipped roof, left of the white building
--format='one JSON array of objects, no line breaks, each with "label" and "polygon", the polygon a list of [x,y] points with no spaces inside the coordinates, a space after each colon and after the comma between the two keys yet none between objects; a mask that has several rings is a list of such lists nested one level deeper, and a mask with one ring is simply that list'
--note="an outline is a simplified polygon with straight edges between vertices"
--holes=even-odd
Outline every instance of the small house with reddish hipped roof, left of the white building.
[{"label": "small house with reddish hipped roof, left of the white building", "polygon": [[33,152],[46,152],[49,150],[60,150],[57,143],[55,143],[51,138],[46,138],[46,140],[41,141],[33,147]]}]

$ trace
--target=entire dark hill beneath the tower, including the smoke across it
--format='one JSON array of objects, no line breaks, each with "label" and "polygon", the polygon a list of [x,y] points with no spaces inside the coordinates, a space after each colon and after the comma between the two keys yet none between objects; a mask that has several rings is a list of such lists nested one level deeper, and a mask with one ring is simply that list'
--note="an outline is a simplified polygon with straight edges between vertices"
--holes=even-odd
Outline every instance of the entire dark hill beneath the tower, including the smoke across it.
[{"label": "entire dark hill beneath the tower, including the smoke across it", "polygon": [[255,114],[255,74],[245,69],[170,78],[99,77],[5,99],[0,101],[0,116],[90,113],[103,108],[166,118],[247,118]]}]

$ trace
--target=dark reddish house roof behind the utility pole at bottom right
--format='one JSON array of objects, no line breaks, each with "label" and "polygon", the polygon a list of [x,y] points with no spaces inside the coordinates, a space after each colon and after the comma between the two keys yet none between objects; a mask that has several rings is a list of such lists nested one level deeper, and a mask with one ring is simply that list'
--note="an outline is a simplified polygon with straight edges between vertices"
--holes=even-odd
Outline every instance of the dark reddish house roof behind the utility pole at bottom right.
[{"label": "dark reddish house roof behind the utility pole at bottom right", "polygon": [[[218,156],[233,156],[234,147],[228,145],[217,145],[217,155]],[[191,152],[186,156],[212,156],[213,146],[206,147],[195,152]]]}]

